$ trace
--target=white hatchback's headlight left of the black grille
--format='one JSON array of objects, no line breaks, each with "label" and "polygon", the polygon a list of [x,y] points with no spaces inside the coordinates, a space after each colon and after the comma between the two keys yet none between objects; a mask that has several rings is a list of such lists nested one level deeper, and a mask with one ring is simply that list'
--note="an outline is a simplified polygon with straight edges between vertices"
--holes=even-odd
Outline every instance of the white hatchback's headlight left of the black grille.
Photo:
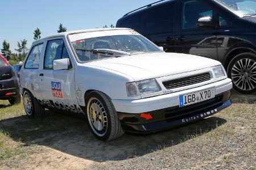
[{"label": "white hatchback's headlight left of the black grille", "polygon": [[149,79],[126,83],[126,90],[128,96],[139,96],[161,91],[161,88],[155,79]]}]

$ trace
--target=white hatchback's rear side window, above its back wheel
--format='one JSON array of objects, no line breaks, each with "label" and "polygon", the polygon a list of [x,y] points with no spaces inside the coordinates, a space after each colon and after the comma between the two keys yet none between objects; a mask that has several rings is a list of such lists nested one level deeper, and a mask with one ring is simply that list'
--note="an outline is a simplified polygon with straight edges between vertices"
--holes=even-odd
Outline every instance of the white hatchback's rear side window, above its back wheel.
[{"label": "white hatchback's rear side window, above its back wheel", "polygon": [[40,55],[42,52],[43,44],[36,45],[32,48],[27,61],[25,63],[25,69],[38,69],[39,68],[39,61]]}]

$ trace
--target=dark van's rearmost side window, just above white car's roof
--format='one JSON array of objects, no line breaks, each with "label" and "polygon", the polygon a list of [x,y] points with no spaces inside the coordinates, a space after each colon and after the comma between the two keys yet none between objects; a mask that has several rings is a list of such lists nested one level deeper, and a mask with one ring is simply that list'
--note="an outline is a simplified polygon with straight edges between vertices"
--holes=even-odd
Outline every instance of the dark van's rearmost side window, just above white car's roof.
[{"label": "dark van's rearmost side window, just above white car's roof", "polygon": [[139,33],[142,33],[141,26],[142,26],[142,14],[130,16],[129,18],[127,18],[121,23],[121,27],[131,28]]}]

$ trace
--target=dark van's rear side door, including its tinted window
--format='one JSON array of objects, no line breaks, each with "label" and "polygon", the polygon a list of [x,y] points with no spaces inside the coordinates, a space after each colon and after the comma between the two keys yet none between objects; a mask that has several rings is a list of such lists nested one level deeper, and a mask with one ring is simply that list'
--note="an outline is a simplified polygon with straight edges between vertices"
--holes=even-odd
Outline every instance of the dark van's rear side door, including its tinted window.
[{"label": "dark van's rear side door, including its tinted window", "polygon": [[166,52],[175,52],[175,3],[167,2],[143,12],[143,35]]}]

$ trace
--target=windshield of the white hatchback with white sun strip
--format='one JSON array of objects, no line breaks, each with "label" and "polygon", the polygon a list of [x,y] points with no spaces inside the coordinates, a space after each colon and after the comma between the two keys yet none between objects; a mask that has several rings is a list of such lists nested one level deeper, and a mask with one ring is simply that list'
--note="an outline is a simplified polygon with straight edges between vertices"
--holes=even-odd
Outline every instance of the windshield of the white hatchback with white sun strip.
[{"label": "windshield of the white hatchback with white sun strip", "polygon": [[91,37],[92,33],[69,35],[69,40],[71,40],[79,62],[84,63],[109,57],[162,52],[156,45],[136,32],[127,35],[112,35],[114,31],[109,32],[112,33],[106,33],[107,36],[98,37]]}]

